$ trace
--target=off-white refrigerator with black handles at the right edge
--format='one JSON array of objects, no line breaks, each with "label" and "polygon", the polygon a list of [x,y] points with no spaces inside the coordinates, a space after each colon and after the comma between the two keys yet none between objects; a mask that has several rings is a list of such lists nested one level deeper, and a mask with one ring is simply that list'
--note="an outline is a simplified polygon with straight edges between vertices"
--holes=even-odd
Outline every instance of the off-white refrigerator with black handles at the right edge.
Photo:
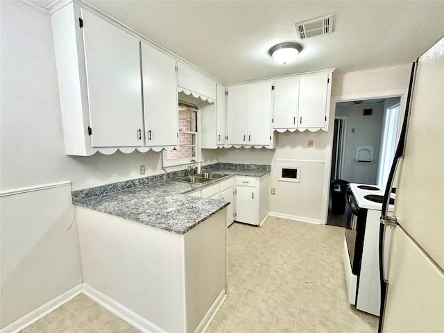
[{"label": "off-white refrigerator with black handles at the right edge", "polygon": [[379,332],[443,333],[444,38],[413,63],[406,115],[386,186],[394,217],[386,204],[381,216]]}]

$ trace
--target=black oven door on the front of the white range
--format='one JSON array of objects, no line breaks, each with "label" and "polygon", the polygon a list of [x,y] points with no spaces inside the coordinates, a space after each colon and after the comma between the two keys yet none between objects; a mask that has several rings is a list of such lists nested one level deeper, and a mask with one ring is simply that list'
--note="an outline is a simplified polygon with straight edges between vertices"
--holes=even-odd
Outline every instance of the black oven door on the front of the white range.
[{"label": "black oven door on the front of the white range", "polygon": [[367,210],[359,208],[352,191],[347,191],[347,223],[345,225],[345,241],[352,273],[359,275],[361,271],[362,248],[366,230]]}]

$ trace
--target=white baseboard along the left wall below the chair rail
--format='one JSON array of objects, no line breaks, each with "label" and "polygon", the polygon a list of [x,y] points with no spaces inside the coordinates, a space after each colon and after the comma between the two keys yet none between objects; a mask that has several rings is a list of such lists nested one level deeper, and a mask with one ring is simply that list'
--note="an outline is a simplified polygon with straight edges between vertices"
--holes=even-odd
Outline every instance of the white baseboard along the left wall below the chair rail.
[{"label": "white baseboard along the left wall below the chair rail", "polygon": [[28,327],[29,325],[35,323],[40,318],[46,316],[46,314],[49,314],[49,312],[57,309],[58,307],[64,305],[72,298],[76,297],[79,293],[82,292],[82,288],[83,288],[82,284],[78,284],[76,287],[70,289],[69,291],[66,291],[65,293],[62,293],[62,295],[56,298],[53,298],[46,304],[42,305],[41,307],[38,307],[34,311],[31,311],[22,318],[19,318],[14,323],[10,323],[10,325],[3,327],[3,329],[0,330],[0,333],[20,332],[25,327]]}]

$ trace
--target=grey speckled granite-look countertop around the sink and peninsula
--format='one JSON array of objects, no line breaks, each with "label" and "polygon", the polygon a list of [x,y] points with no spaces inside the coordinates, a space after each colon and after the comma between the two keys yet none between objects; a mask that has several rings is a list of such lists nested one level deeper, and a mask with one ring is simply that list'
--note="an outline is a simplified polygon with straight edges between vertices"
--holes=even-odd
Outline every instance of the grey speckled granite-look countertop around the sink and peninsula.
[{"label": "grey speckled granite-look countertop around the sink and peninsula", "polygon": [[[190,192],[209,187],[232,176],[261,177],[270,169],[233,169],[233,164],[212,167],[203,172],[228,176],[204,183],[188,183],[151,176],[140,185],[137,181],[116,183],[73,192],[73,203],[123,219],[136,221],[176,234],[185,234],[199,223],[230,205],[223,200],[189,196]],[[218,164],[219,166],[219,164]],[[236,166],[235,166],[236,167]],[[146,180],[148,179],[148,180]],[[153,182],[151,182],[153,180]],[[108,193],[109,192],[109,193]]]}]

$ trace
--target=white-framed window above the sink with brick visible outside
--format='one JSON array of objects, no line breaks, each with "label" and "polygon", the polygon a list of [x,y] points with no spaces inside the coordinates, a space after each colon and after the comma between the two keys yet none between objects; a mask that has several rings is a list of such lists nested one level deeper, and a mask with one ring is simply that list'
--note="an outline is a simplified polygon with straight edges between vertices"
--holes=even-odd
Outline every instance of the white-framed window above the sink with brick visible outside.
[{"label": "white-framed window above the sink with brick visible outside", "polygon": [[172,151],[164,151],[164,167],[190,164],[199,160],[198,107],[196,105],[179,101],[178,129],[178,146]]}]

